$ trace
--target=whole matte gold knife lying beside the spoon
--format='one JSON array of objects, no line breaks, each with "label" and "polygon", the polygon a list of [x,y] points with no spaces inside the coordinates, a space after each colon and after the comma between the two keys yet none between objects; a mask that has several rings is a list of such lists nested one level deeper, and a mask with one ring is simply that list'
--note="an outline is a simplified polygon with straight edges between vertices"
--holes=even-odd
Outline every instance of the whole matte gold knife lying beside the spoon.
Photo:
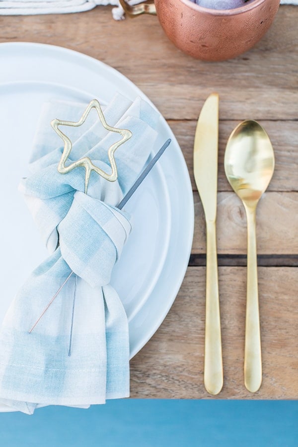
[{"label": "whole matte gold knife lying beside the spoon", "polygon": [[216,248],[219,95],[211,94],[201,110],[194,141],[194,176],[207,228],[204,384],[218,394],[224,383]]}]

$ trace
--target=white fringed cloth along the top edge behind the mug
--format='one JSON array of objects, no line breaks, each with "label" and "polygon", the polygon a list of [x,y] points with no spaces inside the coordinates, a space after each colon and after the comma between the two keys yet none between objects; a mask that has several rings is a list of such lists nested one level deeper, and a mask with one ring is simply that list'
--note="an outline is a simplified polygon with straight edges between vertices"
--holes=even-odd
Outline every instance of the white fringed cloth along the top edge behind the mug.
[{"label": "white fringed cloth along the top edge behind the mug", "polygon": [[[140,0],[130,0],[129,3],[137,4]],[[0,15],[64,14],[107,4],[117,6],[112,10],[115,20],[124,18],[119,0],[0,0]],[[298,0],[281,0],[281,4],[298,4]]]}]

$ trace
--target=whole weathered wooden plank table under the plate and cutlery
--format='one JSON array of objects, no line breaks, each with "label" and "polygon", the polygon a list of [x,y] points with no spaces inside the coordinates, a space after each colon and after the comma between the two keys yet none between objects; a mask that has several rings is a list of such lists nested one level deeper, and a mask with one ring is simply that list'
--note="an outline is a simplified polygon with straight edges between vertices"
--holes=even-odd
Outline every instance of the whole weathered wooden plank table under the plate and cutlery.
[{"label": "whole weathered wooden plank table under the plate and cutlery", "polygon": [[[204,63],[177,50],[156,17],[116,22],[110,7],[45,16],[0,16],[0,41],[60,45],[128,76],[167,119],[183,150],[194,190],[195,234],[180,292],[159,330],[131,361],[131,397],[212,398],[203,385],[206,238],[192,166],[196,120],[206,97],[220,94],[218,194],[222,399],[298,398],[298,7],[281,6],[251,51]],[[239,121],[259,120],[276,168],[257,212],[263,384],[243,384],[246,283],[244,209],[224,176],[226,140]]]}]

